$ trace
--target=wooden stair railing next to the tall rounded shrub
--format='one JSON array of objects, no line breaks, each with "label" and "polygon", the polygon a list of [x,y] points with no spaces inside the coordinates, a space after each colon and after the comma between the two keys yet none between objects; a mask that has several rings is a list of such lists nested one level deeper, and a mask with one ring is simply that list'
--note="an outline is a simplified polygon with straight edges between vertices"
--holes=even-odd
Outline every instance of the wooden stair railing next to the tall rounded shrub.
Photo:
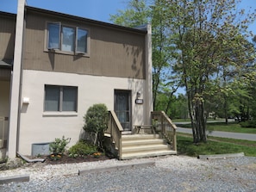
[{"label": "wooden stair railing next to the tall rounded shrub", "polygon": [[116,113],[114,111],[109,111],[108,129],[105,133],[109,133],[111,139],[115,142],[119,158],[122,158],[122,131],[122,125],[118,121]]}]

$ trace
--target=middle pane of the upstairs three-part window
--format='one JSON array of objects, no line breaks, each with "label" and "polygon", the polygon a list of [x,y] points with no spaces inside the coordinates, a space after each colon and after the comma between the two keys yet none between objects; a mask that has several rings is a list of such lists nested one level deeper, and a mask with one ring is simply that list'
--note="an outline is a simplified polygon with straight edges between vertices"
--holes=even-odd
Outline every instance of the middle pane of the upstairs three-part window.
[{"label": "middle pane of the upstairs three-part window", "polygon": [[75,40],[75,29],[63,27],[61,50],[66,52],[73,52],[74,40]]}]

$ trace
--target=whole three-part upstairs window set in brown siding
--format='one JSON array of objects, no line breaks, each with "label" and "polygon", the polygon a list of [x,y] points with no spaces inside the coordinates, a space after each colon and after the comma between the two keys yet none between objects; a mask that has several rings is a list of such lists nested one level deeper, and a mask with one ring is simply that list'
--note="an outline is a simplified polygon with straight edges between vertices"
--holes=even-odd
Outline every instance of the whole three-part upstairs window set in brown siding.
[{"label": "whole three-part upstairs window set in brown siding", "polygon": [[47,49],[63,53],[88,54],[89,29],[61,22],[47,22]]}]

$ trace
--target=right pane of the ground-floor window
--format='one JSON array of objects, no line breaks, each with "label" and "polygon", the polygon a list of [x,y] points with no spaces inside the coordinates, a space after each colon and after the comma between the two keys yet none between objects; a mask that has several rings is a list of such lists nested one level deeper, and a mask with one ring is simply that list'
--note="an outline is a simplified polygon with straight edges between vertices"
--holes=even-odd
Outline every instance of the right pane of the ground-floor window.
[{"label": "right pane of the ground-floor window", "polygon": [[77,92],[76,87],[63,87],[63,111],[77,111]]}]

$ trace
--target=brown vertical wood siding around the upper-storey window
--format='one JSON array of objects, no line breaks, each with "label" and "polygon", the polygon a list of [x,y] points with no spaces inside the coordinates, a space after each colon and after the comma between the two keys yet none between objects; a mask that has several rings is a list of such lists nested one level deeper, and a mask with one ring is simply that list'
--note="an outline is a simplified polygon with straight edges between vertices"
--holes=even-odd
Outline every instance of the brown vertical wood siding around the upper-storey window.
[{"label": "brown vertical wood siding around the upper-storey window", "polygon": [[[88,28],[90,57],[46,52],[47,22]],[[23,69],[107,77],[145,78],[145,34],[115,27],[27,12]]]}]

